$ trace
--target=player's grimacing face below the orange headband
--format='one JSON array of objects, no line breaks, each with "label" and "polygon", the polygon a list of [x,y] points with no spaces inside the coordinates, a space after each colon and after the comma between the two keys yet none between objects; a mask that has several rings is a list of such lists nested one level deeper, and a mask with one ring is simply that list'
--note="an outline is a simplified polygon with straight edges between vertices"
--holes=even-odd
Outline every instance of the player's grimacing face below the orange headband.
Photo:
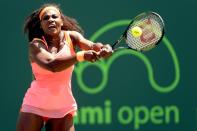
[{"label": "player's grimacing face below the orange headband", "polygon": [[61,32],[63,22],[59,12],[48,10],[43,14],[40,24],[45,34],[53,36]]}]

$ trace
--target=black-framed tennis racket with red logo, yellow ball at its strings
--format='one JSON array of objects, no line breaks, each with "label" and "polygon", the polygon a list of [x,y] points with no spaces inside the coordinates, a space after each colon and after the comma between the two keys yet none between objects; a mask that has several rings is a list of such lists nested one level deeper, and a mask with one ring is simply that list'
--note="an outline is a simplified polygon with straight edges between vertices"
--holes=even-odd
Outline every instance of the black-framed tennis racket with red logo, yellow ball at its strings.
[{"label": "black-framed tennis racket with red logo, yellow ball at its strings", "polygon": [[[128,25],[120,38],[112,45],[114,51],[119,49],[133,49],[136,51],[148,51],[162,40],[164,36],[164,21],[155,12],[144,12],[136,16]],[[117,45],[125,40],[126,46]]]}]

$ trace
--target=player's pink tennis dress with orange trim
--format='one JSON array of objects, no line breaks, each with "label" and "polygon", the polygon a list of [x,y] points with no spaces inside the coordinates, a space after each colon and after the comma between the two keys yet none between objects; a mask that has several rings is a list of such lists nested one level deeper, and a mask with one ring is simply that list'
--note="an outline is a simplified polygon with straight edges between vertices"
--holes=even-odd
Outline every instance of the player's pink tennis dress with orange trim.
[{"label": "player's pink tennis dress with orange trim", "polygon": [[[56,54],[57,56],[66,57],[75,54],[67,32],[65,32],[65,39],[65,45]],[[40,67],[35,62],[31,63],[31,66],[35,80],[25,94],[21,112],[30,112],[49,118],[61,118],[69,113],[74,115],[77,110],[71,89],[74,65],[55,73]]]}]

